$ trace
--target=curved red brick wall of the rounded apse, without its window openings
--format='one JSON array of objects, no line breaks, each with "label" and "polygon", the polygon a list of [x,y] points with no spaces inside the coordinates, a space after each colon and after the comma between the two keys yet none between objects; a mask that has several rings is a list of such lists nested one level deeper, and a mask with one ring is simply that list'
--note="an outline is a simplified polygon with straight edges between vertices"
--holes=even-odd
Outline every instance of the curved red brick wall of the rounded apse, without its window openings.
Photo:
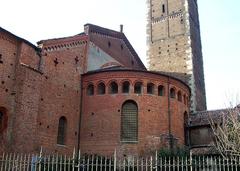
[{"label": "curved red brick wall of the rounded apse, without its window openings", "polygon": [[[106,87],[111,80],[115,80],[119,87],[118,94],[97,95],[97,84],[104,82]],[[121,83],[129,80],[130,94],[121,93]],[[157,95],[157,86],[167,88],[168,77],[147,72],[114,71],[85,75],[83,91],[83,114],[81,122],[80,147],[83,153],[111,154],[114,149],[119,154],[146,154],[164,144],[162,136],[168,134],[168,98]],[[133,93],[133,85],[142,81],[144,92],[142,95]],[[147,83],[155,84],[155,94],[147,94]],[[180,81],[170,78],[170,87],[181,90],[189,96],[189,89]],[[95,94],[88,96],[86,89],[89,83],[94,84]],[[121,107],[126,100],[134,100],[138,104],[138,143],[123,144],[120,142]],[[184,143],[183,117],[189,111],[187,105],[177,99],[171,99],[172,134],[178,139],[178,144]]]}]

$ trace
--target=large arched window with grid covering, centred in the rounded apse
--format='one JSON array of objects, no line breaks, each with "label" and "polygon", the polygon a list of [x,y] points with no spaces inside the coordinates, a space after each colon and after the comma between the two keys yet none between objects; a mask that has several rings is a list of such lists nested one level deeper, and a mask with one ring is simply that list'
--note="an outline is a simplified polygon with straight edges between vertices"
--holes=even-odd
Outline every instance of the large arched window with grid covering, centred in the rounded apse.
[{"label": "large arched window with grid covering, centred in the rounded apse", "polygon": [[138,141],[138,107],[134,101],[126,101],[122,105],[121,141]]}]

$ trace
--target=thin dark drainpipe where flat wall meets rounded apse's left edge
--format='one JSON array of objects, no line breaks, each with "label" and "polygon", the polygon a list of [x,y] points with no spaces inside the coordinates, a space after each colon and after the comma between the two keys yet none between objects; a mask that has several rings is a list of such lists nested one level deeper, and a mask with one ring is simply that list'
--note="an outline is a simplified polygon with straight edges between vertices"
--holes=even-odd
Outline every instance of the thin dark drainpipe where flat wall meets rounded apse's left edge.
[{"label": "thin dark drainpipe where flat wall meets rounded apse's left edge", "polygon": [[80,151],[80,132],[81,132],[81,121],[82,121],[82,107],[83,107],[83,76],[81,75],[81,84],[80,84],[80,111],[78,118],[78,140],[77,140],[77,157],[79,156]]}]

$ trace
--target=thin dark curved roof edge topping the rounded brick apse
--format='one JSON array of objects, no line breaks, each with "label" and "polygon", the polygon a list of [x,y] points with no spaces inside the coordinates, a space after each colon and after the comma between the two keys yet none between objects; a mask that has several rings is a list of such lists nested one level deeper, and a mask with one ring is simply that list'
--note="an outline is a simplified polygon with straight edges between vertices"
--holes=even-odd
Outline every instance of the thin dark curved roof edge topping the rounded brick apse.
[{"label": "thin dark curved roof edge topping the rounded brick apse", "polygon": [[94,74],[104,73],[104,72],[142,72],[142,73],[161,75],[161,76],[172,78],[172,79],[175,79],[175,80],[181,82],[182,84],[184,84],[189,89],[189,92],[191,93],[190,87],[184,81],[180,80],[179,78],[176,78],[176,77],[173,77],[173,76],[170,76],[170,75],[167,75],[167,74],[163,74],[163,73],[158,73],[158,72],[155,72],[155,71],[145,71],[145,70],[135,70],[135,69],[114,69],[114,70],[101,70],[101,69],[99,69],[99,70],[94,70],[94,71],[89,71],[87,73],[84,73],[84,74],[82,74],[82,76],[94,75]]}]

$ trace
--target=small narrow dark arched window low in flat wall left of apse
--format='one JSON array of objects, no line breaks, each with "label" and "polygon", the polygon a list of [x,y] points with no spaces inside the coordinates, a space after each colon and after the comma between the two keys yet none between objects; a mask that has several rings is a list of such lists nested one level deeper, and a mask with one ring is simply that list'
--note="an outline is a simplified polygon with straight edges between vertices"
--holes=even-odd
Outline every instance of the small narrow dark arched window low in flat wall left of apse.
[{"label": "small narrow dark arched window low in flat wall left of apse", "polygon": [[58,123],[57,144],[64,145],[66,142],[67,119],[62,116]]}]

